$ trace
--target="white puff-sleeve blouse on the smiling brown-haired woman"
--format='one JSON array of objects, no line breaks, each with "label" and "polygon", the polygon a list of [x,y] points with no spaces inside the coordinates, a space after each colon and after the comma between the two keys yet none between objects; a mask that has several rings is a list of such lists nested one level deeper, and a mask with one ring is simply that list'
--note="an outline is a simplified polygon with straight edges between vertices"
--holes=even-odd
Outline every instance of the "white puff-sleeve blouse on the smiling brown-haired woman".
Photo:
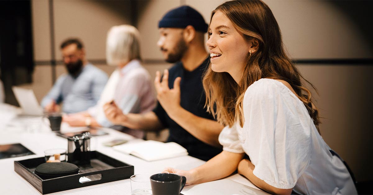
[{"label": "white puff-sleeve blouse on the smiling brown-haired woman", "polygon": [[223,150],[245,152],[253,174],[300,194],[356,194],[347,168],[317,132],[303,102],[281,82],[260,79],[247,88],[244,126],[219,135]]}]

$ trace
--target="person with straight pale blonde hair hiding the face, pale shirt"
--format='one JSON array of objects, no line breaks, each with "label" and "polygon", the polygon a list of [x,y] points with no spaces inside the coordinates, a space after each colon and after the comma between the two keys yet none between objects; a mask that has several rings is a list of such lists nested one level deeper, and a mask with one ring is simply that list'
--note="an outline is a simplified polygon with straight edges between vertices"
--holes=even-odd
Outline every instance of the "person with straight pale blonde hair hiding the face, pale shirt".
[{"label": "person with straight pale blonde hair hiding the face, pale shirt", "polygon": [[[140,34],[131,25],[113,26],[107,33],[107,64],[117,66],[107,82],[100,100],[87,111],[69,114],[63,120],[70,126],[113,126],[106,119],[103,105],[113,100],[123,113],[144,113],[155,106],[149,73],[141,65]],[[123,128],[123,132],[143,138],[144,132]]]}]

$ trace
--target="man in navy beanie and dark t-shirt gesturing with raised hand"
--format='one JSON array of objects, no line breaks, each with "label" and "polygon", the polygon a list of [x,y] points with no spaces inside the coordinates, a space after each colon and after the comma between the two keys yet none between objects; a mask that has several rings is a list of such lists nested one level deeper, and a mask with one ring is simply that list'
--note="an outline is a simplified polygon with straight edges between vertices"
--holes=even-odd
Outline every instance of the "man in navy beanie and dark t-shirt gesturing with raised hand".
[{"label": "man in navy beanie and dark t-shirt gesturing with raised hand", "polygon": [[181,6],[167,12],[158,27],[157,45],[164,59],[175,65],[164,70],[162,79],[161,74],[156,73],[157,107],[142,115],[123,115],[120,109],[112,111],[115,109],[107,104],[107,117],[131,129],[168,128],[167,142],[176,142],[186,148],[189,155],[207,161],[222,151],[218,136],[223,129],[204,108],[206,95],[202,78],[210,62],[204,47],[208,25],[195,9]]}]

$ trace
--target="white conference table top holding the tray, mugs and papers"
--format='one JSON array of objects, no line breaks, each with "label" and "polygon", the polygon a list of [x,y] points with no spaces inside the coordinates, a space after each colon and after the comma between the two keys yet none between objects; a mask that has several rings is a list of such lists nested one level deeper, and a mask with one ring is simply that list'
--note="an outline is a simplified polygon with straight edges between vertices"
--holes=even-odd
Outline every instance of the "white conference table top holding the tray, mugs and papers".
[{"label": "white conference table top holding the tray, mugs and papers", "polygon": [[[67,124],[62,124],[62,132],[82,130],[72,128]],[[175,167],[177,169],[189,170],[200,166],[204,161],[191,156],[169,158],[157,161],[145,161],[132,155],[123,154],[105,147],[103,142],[113,139],[128,139],[129,142],[141,141],[131,135],[119,132],[114,129],[102,128],[109,135],[95,136],[91,139],[91,148],[97,150],[124,163],[134,166],[135,174],[156,174],[162,172],[164,167]],[[0,159],[0,194],[22,194],[40,195],[31,184],[14,171],[14,161],[29,158],[43,157],[44,150],[50,148],[67,149],[67,139],[56,136],[43,122],[41,117],[18,117],[13,119],[7,126],[0,129],[0,145],[21,143],[26,148],[35,153],[23,157]],[[218,171],[218,170],[217,170]],[[232,195],[232,194],[267,194],[259,190],[250,181],[239,174],[234,174],[225,179],[207,182],[198,185],[185,186],[181,192],[184,195],[204,194],[204,195]],[[115,182],[102,183],[82,188],[70,189],[52,194],[131,194],[131,184],[129,179]]]}]

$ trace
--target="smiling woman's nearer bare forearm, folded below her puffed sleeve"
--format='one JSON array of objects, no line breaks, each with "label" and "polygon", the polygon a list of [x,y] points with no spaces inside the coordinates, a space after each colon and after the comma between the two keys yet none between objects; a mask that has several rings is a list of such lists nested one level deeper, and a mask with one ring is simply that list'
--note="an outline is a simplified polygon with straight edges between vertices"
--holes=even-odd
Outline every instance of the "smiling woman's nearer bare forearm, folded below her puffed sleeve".
[{"label": "smiling woman's nearer bare forearm, folded below her puffed sleeve", "polygon": [[291,189],[275,188],[253,174],[255,166],[250,160],[243,159],[238,164],[238,173],[245,176],[251,183],[271,194],[291,194]]}]

